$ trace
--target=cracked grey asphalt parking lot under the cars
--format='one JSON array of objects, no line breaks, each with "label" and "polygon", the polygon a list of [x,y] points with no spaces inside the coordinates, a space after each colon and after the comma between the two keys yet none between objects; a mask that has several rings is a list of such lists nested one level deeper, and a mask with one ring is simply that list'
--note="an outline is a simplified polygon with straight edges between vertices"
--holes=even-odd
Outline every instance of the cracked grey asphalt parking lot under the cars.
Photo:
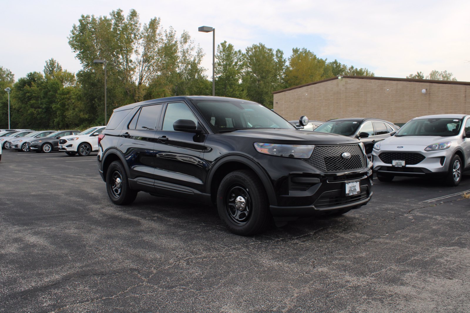
[{"label": "cracked grey asphalt parking lot under the cars", "polygon": [[469,312],[470,174],[240,237],[217,211],[113,205],[96,156],[3,151],[0,312]]}]

